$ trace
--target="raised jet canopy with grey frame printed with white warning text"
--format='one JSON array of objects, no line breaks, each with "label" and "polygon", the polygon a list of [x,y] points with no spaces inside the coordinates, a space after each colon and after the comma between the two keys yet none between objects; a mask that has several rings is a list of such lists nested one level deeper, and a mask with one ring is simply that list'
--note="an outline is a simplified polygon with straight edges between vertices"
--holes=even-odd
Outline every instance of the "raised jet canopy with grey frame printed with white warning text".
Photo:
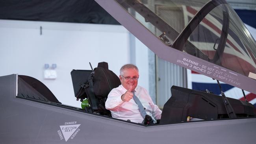
[{"label": "raised jet canopy with grey frame printed with white warning text", "polygon": [[161,59],[256,94],[256,42],[226,1],[95,1]]}]

